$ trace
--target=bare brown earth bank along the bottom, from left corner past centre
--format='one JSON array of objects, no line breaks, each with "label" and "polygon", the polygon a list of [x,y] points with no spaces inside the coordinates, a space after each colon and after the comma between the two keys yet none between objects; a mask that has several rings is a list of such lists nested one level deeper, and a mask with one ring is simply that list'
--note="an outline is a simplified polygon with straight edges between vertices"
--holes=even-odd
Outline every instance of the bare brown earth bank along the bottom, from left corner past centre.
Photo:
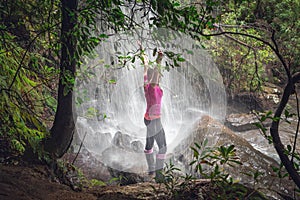
[{"label": "bare brown earth bank along the bottom, from left corner past centre", "polygon": [[1,200],[167,199],[164,189],[150,182],[128,186],[94,186],[76,192],[53,180],[49,169],[42,165],[0,165],[0,188]]}]

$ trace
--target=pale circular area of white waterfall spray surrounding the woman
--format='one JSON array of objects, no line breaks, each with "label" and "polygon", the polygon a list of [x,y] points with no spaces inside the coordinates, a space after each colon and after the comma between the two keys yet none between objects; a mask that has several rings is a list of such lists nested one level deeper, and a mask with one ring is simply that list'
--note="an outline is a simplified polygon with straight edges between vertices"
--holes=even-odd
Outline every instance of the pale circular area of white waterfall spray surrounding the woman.
[{"label": "pale circular area of white waterfall spray surrounding the woman", "polygon": [[[129,55],[134,55],[138,41],[142,41],[150,60],[155,59],[152,57],[155,47],[164,52],[181,53],[186,60],[180,63],[180,67],[169,72],[164,70],[160,84],[164,92],[162,124],[168,153],[172,153],[190,134],[189,130],[203,113],[219,121],[223,121],[226,114],[222,77],[208,53],[199,48],[196,41],[160,29],[151,33],[145,30],[128,32],[102,42],[95,57],[86,60],[86,67],[82,67],[77,79],[75,108],[78,134],[83,139],[86,133],[85,147],[102,162],[118,170],[134,172],[146,169],[143,149],[133,152],[130,144],[128,148],[116,147],[112,145],[112,138],[120,131],[128,134],[131,142],[139,141],[142,144],[139,148],[143,148],[145,142],[143,67],[138,58],[125,67],[117,65],[116,57],[118,52],[122,55],[133,52]],[[163,65],[165,61],[169,60],[165,57]],[[109,83],[109,80],[116,80],[116,83]],[[99,116],[96,117],[96,114]],[[106,118],[102,119],[103,116]]]}]

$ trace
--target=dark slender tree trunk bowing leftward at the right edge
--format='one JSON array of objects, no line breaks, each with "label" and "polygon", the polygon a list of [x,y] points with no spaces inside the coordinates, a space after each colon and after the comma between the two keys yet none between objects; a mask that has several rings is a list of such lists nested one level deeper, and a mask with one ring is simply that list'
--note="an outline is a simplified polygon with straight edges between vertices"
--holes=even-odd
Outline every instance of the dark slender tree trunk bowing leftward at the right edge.
[{"label": "dark slender tree trunk bowing leftward at the right edge", "polygon": [[[288,84],[286,85],[286,87],[284,89],[282,99],[281,99],[280,104],[274,114],[274,117],[280,119],[280,116],[288,103],[290,95],[293,94],[293,92],[294,92],[295,83],[298,82],[299,80],[300,80],[300,73],[296,74],[289,80]],[[293,179],[295,184],[298,186],[298,188],[300,188],[300,175],[297,172],[297,170],[295,169],[293,162],[286,155],[285,148],[279,137],[279,130],[278,130],[279,122],[280,122],[280,120],[273,120],[271,128],[270,128],[270,133],[271,133],[271,136],[273,139],[273,144],[274,144],[274,147],[280,157],[282,164],[288,171],[290,177]]]}]

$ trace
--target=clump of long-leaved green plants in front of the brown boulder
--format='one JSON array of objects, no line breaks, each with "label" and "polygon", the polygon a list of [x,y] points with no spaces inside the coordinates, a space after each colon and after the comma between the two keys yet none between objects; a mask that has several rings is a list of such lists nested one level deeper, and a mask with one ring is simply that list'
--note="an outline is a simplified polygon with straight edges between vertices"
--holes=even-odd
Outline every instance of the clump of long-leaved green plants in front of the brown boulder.
[{"label": "clump of long-leaved green plants in front of the brown boulder", "polygon": [[[181,175],[180,169],[171,162],[165,166],[161,184],[171,199],[267,199],[255,186],[260,172],[248,173],[254,180],[250,188],[239,184],[227,171],[228,168],[238,169],[242,165],[234,145],[209,147],[207,143],[208,140],[204,140],[191,147],[193,161],[190,166],[195,171],[193,175]],[[209,182],[201,184],[197,182],[199,177]]]}]

